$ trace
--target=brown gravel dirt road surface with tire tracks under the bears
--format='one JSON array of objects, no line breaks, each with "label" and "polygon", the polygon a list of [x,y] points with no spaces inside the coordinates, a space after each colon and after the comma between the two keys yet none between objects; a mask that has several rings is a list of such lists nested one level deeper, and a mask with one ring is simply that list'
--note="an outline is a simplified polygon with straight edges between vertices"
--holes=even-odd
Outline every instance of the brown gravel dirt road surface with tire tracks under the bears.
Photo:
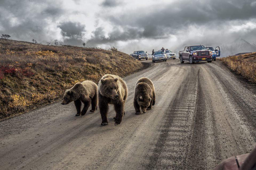
[{"label": "brown gravel dirt road surface with tire tracks under the bears", "polygon": [[[60,102],[0,122],[0,169],[214,169],[256,146],[256,87],[219,61],[151,63],[124,78],[125,116],[101,126]],[[156,104],[135,115],[134,86],[155,85]]]}]

